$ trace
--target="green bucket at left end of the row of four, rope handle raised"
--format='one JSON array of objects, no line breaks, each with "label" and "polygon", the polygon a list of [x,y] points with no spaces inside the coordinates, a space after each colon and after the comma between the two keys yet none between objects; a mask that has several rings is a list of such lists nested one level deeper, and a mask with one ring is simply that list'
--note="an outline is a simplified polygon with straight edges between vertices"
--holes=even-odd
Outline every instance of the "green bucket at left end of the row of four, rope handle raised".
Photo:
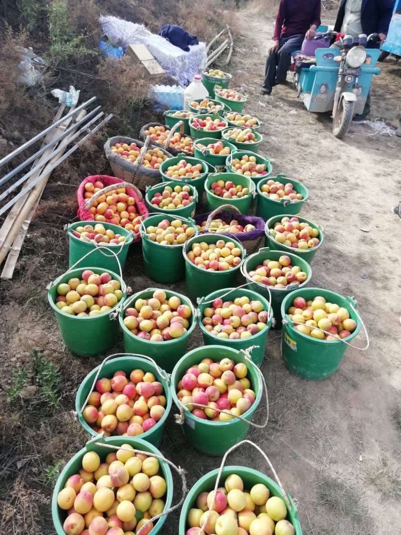
[{"label": "green bucket at left end of the row of four, rope handle raised", "polygon": [[64,345],[75,355],[80,357],[91,357],[104,353],[113,345],[115,340],[117,340],[119,333],[118,323],[110,318],[110,314],[115,312],[124,302],[127,297],[127,287],[117,273],[95,267],[87,267],[85,269],[91,270],[97,274],[109,273],[113,279],[120,282],[123,295],[115,307],[109,312],[104,312],[98,316],[84,317],[64,314],[56,307],[57,286],[67,282],[68,279],[75,277],[81,279],[82,272],[84,271],[82,268],[68,271],[55,281],[51,282],[49,286],[48,300],[51,308],[56,314],[58,327]]}]

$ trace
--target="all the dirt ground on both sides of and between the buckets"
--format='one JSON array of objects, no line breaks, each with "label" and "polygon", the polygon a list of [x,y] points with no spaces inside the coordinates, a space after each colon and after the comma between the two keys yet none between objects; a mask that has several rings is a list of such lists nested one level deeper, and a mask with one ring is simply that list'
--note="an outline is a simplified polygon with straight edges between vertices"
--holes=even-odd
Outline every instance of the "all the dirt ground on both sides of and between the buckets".
[{"label": "all the dirt ground on both sides of and between the buckets", "polygon": [[[353,123],[350,135],[337,140],[330,118],[308,113],[289,86],[275,88],[270,97],[260,96],[273,18],[260,11],[241,16],[246,37],[238,41],[230,65],[232,87],[248,93],[246,110],[264,123],[260,154],[272,158],[274,173],[303,180],[310,192],[303,215],[325,229],[311,286],[354,296],[370,339],[366,351],[349,348],[332,377],[312,382],[286,369],[280,330],[271,331],[261,368],[268,384],[270,418],[265,430],[251,431],[249,438],[265,450],[284,488],[296,499],[303,533],[395,535],[401,524],[401,221],[391,208],[400,198],[401,138],[372,135],[368,125]],[[381,67],[373,83],[371,119],[382,118],[396,127],[401,65],[390,58]],[[82,166],[82,173],[111,172],[102,158],[96,169],[84,162]],[[76,185],[84,176],[68,176],[66,165],[53,175],[16,276],[1,282],[4,535],[54,533],[52,485],[45,475],[59,461],[62,468],[87,438],[71,411],[80,381],[103,357],[85,360],[63,347],[45,289],[67,269],[63,225],[75,216]],[[63,185],[57,185],[58,180]],[[132,247],[124,273],[134,291],[155,286],[144,274],[138,245]],[[171,287],[185,293],[184,282]],[[196,330],[189,348],[201,343]],[[362,333],[355,345],[365,346]],[[120,337],[110,353],[122,349]],[[35,351],[59,369],[61,400],[56,409],[45,403],[41,388],[32,398],[6,403],[14,370],[27,366],[28,381],[35,382]],[[265,409],[257,422],[263,421]],[[220,458],[194,452],[175,424],[174,412],[173,408],[160,449],[187,470],[191,487],[217,468]],[[248,448],[237,450],[230,463],[269,474],[257,452]],[[178,532],[178,517],[179,513],[168,518],[164,533]]]}]

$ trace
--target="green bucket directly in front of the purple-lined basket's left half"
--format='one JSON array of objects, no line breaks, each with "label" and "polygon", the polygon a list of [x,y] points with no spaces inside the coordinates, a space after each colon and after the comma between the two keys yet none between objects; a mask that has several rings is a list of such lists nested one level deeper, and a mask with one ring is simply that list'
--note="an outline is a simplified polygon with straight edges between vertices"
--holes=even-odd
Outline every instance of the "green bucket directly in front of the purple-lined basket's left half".
[{"label": "green bucket directly in front of the purple-lined basket's left half", "polygon": [[187,256],[193,243],[202,241],[206,243],[215,243],[220,239],[224,239],[226,242],[234,242],[236,247],[239,247],[242,251],[242,260],[245,258],[246,253],[239,240],[235,240],[234,238],[226,239],[219,234],[210,233],[202,234],[202,236],[192,236],[186,243],[184,243],[182,252],[185,259],[185,284],[187,295],[194,303],[198,297],[209,295],[220,288],[231,288],[236,286],[235,282],[242,262],[235,266],[235,268],[227,271],[207,271],[199,269],[195,264],[192,264]]}]

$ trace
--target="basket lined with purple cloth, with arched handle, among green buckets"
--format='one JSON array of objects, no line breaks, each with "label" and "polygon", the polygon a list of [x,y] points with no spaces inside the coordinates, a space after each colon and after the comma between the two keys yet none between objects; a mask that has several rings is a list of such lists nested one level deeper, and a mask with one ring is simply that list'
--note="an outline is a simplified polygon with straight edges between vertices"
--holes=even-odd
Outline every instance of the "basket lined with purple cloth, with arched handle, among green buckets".
[{"label": "basket lined with purple cloth, with arched handle, among green buckets", "polygon": [[[230,210],[226,211],[226,210]],[[235,216],[233,215],[233,213]],[[221,232],[219,235],[226,236],[226,238],[235,238],[240,240],[244,249],[248,254],[255,253],[259,249],[260,242],[265,238],[265,221],[261,217],[256,216],[244,216],[236,207],[231,204],[223,204],[219,208],[213,210],[213,212],[201,213],[195,216],[195,223],[201,225],[202,221],[206,219],[206,226],[203,231],[199,231],[199,235],[209,233],[209,227],[212,220],[219,216],[225,223],[230,223],[234,218],[240,223],[240,225],[254,225],[255,230],[250,232]],[[217,234],[217,233],[216,233]]]}]

